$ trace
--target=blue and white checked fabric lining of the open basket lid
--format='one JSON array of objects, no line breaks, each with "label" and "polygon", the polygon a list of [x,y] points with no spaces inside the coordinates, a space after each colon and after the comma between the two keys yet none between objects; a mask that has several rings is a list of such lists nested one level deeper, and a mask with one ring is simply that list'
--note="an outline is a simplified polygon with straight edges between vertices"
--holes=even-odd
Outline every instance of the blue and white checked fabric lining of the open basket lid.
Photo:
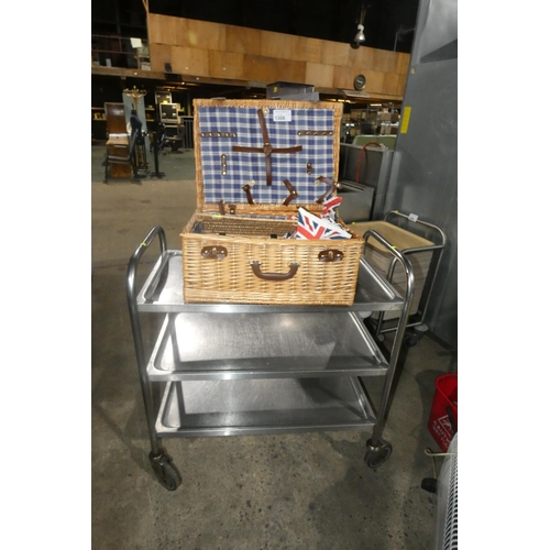
[{"label": "blue and white checked fabric lining of the open basket lid", "polygon": [[[199,132],[235,132],[237,138],[200,138],[202,187],[205,202],[246,202],[242,186],[254,182],[251,189],[256,204],[282,204],[288,197],[283,180],[288,179],[298,191],[292,204],[312,204],[327,190],[327,185],[315,180],[334,177],[334,135],[298,135],[299,130],[334,131],[331,109],[289,109],[292,121],[273,120],[274,109],[265,114],[270,143],[274,148],[301,145],[296,153],[272,154],[272,186],[265,183],[265,155],[235,153],[233,145],[263,147],[262,128],[256,108],[200,107]],[[227,157],[227,174],[221,174],[221,155]],[[307,174],[307,164],[312,166]]]}]

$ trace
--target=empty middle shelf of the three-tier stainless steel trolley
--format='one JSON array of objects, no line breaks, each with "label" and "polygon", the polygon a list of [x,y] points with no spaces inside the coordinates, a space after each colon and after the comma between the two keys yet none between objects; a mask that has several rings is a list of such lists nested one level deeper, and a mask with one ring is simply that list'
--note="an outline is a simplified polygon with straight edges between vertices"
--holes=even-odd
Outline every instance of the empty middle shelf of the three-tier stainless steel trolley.
[{"label": "empty middle shelf of the three-tier stainless steel trolley", "polygon": [[168,314],[147,364],[152,382],[384,375],[388,364],[352,311]]}]

